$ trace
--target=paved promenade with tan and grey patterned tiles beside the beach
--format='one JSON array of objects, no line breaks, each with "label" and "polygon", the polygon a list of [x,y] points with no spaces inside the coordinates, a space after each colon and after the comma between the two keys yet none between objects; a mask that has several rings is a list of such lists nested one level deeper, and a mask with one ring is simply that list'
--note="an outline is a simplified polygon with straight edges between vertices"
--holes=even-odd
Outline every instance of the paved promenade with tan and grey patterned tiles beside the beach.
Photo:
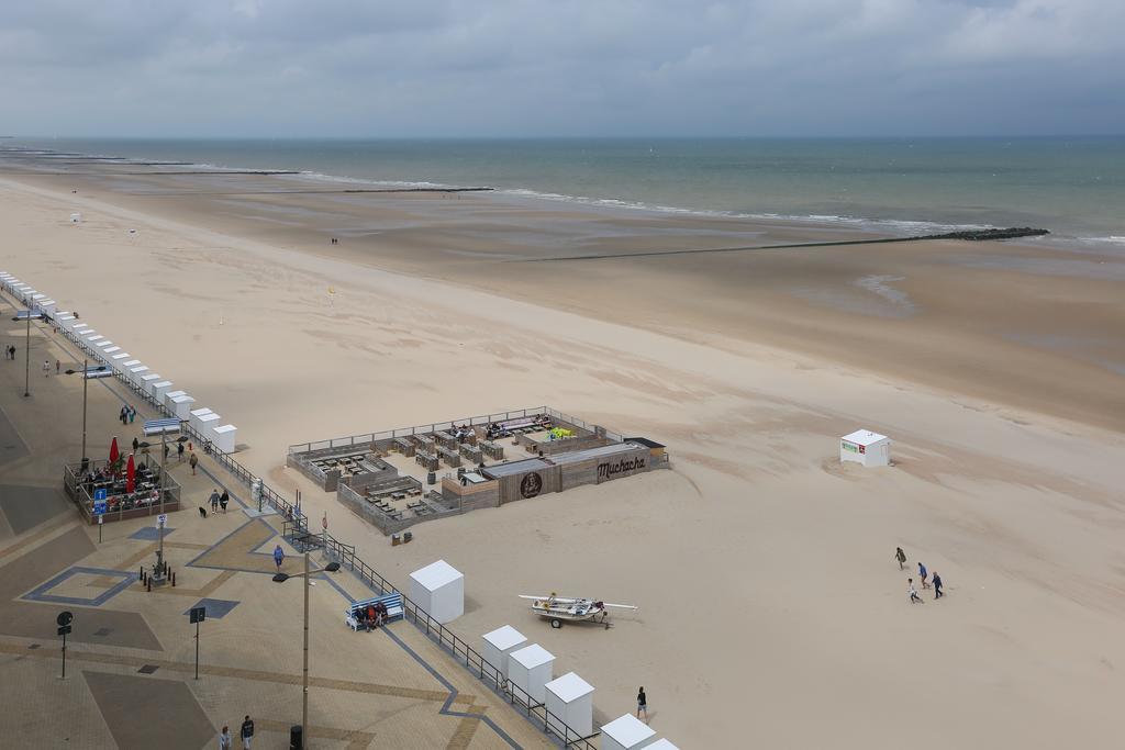
[{"label": "paved promenade with tan and grey patterned tiles beside the beach", "polygon": [[[0,316],[11,317],[0,302]],[[69,342],[33,326],[32,362],[73,367]],[[0,345],[15,342],[0,334]],[[22,333],[22,332],[19,332]],[[80,455],[82,381],[33,367],[24,397],[24,349],[0,362],[0,702],[7,734],[21,747],[216,747],[245,714],[254,747],[288,747],[300,722],[300,581],[271,580],[281,543],[284,570],[303,560],[280,537],[276,515],[244,512],[244,491],[207,457],[196,476],[172,454],[183,486],[163,548],[176,586],[147,591],[142,566],[160,546],[151,518],[84,524],[61,490],[61,466]],[[116,380],[89,383],[88,454],[123,448],[140,433],[143,404]],[[141,414],[116,418],[122,403]],[[7,446],[14,448],[7,448]],[[226,514],[196,510],[212,488],[231,491]],[[25,489],[14,489],[25,488]],[[546,738],[487,692],[413,625],[353,633],[350,598],[370,595],[346,571],[322,573],[310,590],[309,744],[315,748],[540,748]],[[199,678],[189,608],[202,604]],[[74,615],[66,677],[60,612]]]}]

